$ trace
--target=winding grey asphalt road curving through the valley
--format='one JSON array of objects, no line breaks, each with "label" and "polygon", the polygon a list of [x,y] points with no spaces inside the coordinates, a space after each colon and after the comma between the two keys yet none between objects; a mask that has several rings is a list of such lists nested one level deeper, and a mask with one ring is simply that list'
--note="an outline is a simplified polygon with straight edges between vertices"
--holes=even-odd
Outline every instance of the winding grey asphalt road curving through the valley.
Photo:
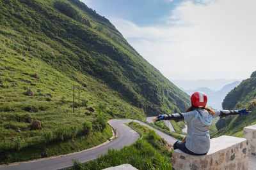
[{"label": "winding grey asphalt road curving through the valley", "polygon": [[175,141],[177,141],[177,139],[173,138],[172,136],[168,136],[167,134],[164,134],[163,132],[158,131],[157,129],[154,129],[138,120],[110,120],[109,124],[111,124],[111,126],[117,131],[117,138],[104,146],[100,146],[92,150],[85,150],[84,152],[67,154],[56,158],[35,160],[31,162],[21,162],[19,164],[12,164],[9,166],[3,165],[0,166],[0,169],[63,169],[65,167],[73,166],[72,159],[77,159],[79,162],[88,162],[89,160],[96,159],[99,155],[107,153],[108,148],[120,150],[120,148],[123,148],[125,145],[131,145],[134,143],[140,136],[137,132],[133,131],[130,127],[125,125],[125,123],[132,121],[138,122],[149,127],[150,129],[153,129],[157,132],[157,134],[159,134],[159,136],[161,136],[161,138],[164,138],[170,144],[173,144]]}]

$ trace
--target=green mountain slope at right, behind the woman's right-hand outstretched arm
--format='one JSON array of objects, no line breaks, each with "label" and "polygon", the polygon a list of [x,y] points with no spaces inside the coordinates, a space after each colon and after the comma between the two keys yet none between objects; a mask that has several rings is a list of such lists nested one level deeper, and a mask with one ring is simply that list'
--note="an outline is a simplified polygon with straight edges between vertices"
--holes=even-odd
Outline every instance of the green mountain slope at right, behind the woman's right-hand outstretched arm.
[{"label": "green mountain slope at right, behind the woman's right-hand outstretched arm", "polygon": [[248,115],[230,116],[225,119],[220,118],[216,127],[219,129],[216,136],[223,134],[232,136],[243,136],[243,128],[256,124],[256,110],[253,101],[256,99],[256,77],[255,72],[251,78],[241,82],[240,85],[231,90],[223,101],[223,108],[227,110],[239,110],[248,108],[252,113]]}]

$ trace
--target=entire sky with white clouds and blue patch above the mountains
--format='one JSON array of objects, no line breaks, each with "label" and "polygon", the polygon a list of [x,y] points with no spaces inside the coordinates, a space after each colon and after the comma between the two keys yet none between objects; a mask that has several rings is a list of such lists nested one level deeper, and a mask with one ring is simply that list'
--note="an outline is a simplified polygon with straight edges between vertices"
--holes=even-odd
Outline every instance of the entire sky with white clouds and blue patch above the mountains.
[{"label": "entire sky with white clouds and blue patch above the mountains", "polygon": [[81,0],[169,80],[250,78],[255,0]]}]

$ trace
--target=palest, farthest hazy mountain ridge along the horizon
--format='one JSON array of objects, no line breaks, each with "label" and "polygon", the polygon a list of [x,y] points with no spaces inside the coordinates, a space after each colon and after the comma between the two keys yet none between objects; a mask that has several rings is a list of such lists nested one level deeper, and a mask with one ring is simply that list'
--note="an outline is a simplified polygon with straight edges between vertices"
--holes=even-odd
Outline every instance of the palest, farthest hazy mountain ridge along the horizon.
[{"label": "palest, farthest hazy mountain ridge along the horizon", "polygon": [[234,81],[242,80],[227,80],[227,79],[213,79],[213,80],[171,80],[177,87],[182,89],[198,89],[200,87],[208,87],[212,90],[220,90],[223,86]]}]

